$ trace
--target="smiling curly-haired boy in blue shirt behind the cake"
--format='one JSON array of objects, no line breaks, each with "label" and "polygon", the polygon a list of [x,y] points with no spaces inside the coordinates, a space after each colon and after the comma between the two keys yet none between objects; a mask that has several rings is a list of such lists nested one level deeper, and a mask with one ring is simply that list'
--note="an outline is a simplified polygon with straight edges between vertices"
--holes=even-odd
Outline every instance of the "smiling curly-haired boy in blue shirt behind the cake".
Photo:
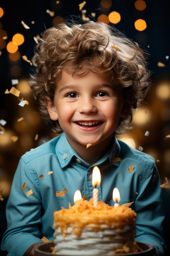
[{"label": "smiling curly-haired boy in blue shirt behind the cake", "polygon": [[[115,137],[128,128],[133,110],[150,89],[139,45],[102,22],[63,23],[44,31],[33,64],[29,84],[42,117],[51,120],[57,133],[63,132],[21,157],[7,203],[2,251],[33,256],[43,236],[53,240],[53,212],[68,208],[68,202],[73,205],[77,189],[88,199],[93,196],[91,174],[97,165],[98,200],[111,205],[117,187],[120,204],[134,201],[135,240],[163,255],[164,217],[155,161]],[[68,193],[56,196],[64,188]]]}]

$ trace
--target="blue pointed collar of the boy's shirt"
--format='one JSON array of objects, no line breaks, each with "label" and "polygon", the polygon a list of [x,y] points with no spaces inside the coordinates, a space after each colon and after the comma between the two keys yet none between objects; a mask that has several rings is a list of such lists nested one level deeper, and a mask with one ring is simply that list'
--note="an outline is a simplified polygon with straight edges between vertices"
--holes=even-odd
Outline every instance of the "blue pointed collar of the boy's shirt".
[{"label": "blue pointed collar of the boy's shirt", "polygon": [[[108,150],[108,152],[100,159],[96,164],[100,164],[104,162],[106,159],[109,159],[110,163],[117,163],[120,162],[120,145],[116,137],[113,138],[113,146]],[[69,144],[68,140],[66,139],[65,132],[60,135],[60,138],[57,141],[55,146],[55,151],[57,157],[59,159],[60,165],[62,168],[66,167],[73,158],[77,160],[77,162],[81,162],[86,166],[90,166],[86,163],[83,159],[79,157],[79,155],[75,152],[72,146]]]}]

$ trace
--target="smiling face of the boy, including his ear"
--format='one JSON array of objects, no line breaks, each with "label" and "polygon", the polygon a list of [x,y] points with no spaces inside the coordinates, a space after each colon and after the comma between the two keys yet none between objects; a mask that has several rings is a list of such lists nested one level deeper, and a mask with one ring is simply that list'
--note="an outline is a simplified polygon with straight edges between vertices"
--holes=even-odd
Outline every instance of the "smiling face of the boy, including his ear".
[{"label": "smiling face of the boy, including his ear", "polygon": [[112,137],[119,118],[128,115],[123,102],[121,87],[112,85],[108,73],[87,70],[79,76],[63,71],[54,102],[46,104],[51,119],[59,120],[71,146],[75,141],[94,146]]}]

